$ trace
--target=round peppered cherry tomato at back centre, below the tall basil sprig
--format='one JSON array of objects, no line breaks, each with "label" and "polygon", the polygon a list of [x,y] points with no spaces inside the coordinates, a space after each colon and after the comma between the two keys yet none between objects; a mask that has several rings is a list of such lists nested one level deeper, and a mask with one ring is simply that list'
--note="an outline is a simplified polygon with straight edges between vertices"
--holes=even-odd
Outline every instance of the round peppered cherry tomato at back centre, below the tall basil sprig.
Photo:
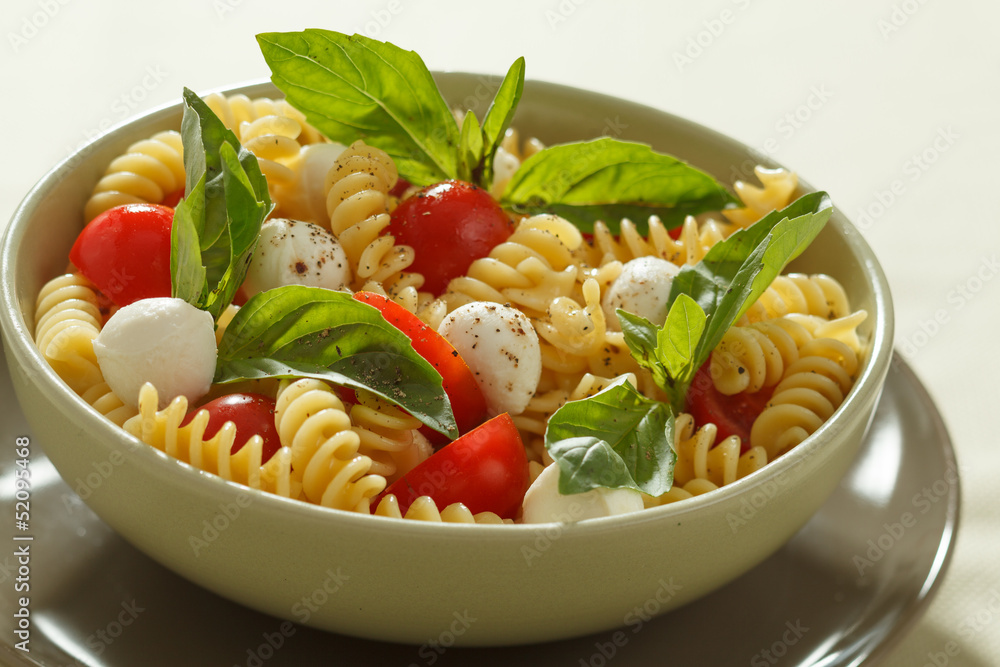
[{"label": "round peppered cherry tomato at back centre, below the tall basil sprig", "polygon": [[396,243],[414,249],[410,268],[424,277],[423,289],[438,295],[452,278],[465,275],[473,260],[506,241],[513,226],[482,188],[444,181],[401,201],[388,231]]}]

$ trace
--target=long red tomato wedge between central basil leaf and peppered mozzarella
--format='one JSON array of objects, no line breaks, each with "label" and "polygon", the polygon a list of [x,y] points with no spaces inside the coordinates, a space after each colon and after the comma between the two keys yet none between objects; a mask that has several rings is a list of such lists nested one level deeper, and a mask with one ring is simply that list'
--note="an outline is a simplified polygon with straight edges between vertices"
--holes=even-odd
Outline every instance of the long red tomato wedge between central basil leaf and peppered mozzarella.
[{"label": "long red tomato wedge between central basil leaf and peppered mozzarella", "polygon": [[[381,294],[357,292],[354,298],[377,308],[389,324],[406,334],[417,354],[441,374],[459,433],[472,430],[486,419],[486,399],[483,392],[479,389],[476,377],[451,343],[421,322],[416,315]],[[437,431],[429,428],[421,431],[434,444],[447,442],[447,438]]]}]

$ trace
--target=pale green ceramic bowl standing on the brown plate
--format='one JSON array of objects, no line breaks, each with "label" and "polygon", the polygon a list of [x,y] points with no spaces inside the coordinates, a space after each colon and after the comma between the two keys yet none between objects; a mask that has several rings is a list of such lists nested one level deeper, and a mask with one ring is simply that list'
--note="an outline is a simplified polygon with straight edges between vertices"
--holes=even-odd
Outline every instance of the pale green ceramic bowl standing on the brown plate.
[{"label": "pale green ceramic bowl standing on the brown plate", "polygon": [[[483,77],[443,74],[439,81],[455,103],[488,103]],[[276,91],[258,84],[239,92]],[[314,507],[173,460],[77,397],[39,356],[31,329],[35,296],[64,269],[83,203],[106,165],[129,144],[179,127],[180,116],[174,105],[112,130],[28,194],[3,241],[0,323],[35,442],[67,483],[77,488],[89,476],[86,502],[102,519],[219,595],[318,628],[416,644],[528,643],[635,629],[778,549],[822,505],[862,442],[889,367],[892,305],[871,249],[835,212],[792,268],[843,283],[851,303],[869,313],[863,330],[871,351],[828,423],[718,491],[578,524],[463,526]],[[546,83],[525,85],[515,125],[547,143],[620,130],[621,138],[647,141],[725,182],[757,159],[694,123]]]}]

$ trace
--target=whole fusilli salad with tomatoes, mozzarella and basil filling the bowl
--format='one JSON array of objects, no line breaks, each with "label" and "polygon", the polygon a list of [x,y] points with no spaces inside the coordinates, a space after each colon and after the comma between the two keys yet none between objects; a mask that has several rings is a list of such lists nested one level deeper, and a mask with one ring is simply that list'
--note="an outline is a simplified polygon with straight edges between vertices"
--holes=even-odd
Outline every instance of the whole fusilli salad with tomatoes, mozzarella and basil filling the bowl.
[{"label": "whole fusilli salad with tomatoes, mozzarella and basil filling the bowl", "polygon": [[794,174],[522,141],[523,59],[479,119],[392,44],[258,42],[285,99],[185,90],[38,296],[48,363],[143,442],[340,510],[582,520],[730,484],[850,391],[865,312],[782,274],[832,211]]}]

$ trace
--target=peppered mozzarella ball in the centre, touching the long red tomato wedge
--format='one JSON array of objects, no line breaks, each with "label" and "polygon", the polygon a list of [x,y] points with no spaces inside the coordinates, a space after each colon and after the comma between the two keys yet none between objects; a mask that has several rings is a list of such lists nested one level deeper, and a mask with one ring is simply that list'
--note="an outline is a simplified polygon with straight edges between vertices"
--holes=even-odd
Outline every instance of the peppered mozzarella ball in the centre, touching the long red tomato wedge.
[{"label": "peppered mozzarella ball in the centre, touching the long red tomato wedge", "polygon": [[490,416],[521,414],[542,376],[538,334],[519,310],[475,301],[455,309],[438,327],[469,365]]}]

